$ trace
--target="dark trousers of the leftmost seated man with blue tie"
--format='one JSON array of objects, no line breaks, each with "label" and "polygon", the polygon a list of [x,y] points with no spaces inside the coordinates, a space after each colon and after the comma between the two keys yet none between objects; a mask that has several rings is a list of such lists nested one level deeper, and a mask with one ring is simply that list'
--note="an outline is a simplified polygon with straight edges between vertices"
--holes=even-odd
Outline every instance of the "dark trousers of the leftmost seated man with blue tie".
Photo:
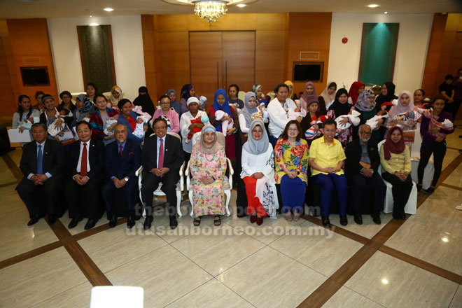
[{"label": "dark trousers of the leftmost seated man with blue tie", "polygon": [[[35,185],[27,177],[20,181],[16,190],[21,200],[26,204],[30,217],[34,215],[57,214],[59,195],[61,195],[58,191],[61,181],[62,178],[59,176],[52,176],[43,182],[43,185]],[[45,199],[40,200],[41,196]]]}]

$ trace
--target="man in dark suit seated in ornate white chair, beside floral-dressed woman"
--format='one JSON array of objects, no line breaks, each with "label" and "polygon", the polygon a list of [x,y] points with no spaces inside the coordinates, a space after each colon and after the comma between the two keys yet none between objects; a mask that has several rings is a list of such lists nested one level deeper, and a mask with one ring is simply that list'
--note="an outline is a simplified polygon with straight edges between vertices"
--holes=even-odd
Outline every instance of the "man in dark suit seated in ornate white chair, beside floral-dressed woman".
[{"label": "man in dark suit seated in ornate white chair, beside floral-dressed woman", "polygon": [[155,135],[144,140],[141,163],[147,172],[141,186],[141,198],[146,207],[144,230],[151,228],[153,222],[153,192],[162,182],[162,191],[167,195],[170,228],[178,225],[176,221],[176,183],[180,179],[179,170],[184,156],[178,138],[167,134],[167,121],[157,118],[153,122]]}]

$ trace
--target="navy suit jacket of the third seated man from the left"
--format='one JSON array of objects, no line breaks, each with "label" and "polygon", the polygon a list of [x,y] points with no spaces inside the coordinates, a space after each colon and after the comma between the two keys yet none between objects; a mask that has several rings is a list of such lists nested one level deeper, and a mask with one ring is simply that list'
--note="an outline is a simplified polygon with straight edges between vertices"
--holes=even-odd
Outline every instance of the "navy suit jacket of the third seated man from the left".
[{"label": "navy suit jacket of the third seated man from the left", "polygon": [[119,143],[111,142],[106,146],[106,176],[111,179],[116,176],[123,179],[125,176],[134,178],[135,172],[141,165],[141,148],[137,142],[127,139],[123,148],[122,157],[119,155]]}]

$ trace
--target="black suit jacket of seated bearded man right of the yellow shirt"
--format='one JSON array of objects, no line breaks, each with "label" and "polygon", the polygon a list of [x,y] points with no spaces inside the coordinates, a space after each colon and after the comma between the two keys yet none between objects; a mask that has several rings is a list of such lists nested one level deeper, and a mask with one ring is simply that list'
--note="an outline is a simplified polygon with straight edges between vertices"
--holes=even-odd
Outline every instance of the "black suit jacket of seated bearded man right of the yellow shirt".
[{"label": "black suit jacket of seated bearded man right of the yellow shirt", "polygon": [[[346,145],[345,156],[345,174],[358,174],[363,166],[359,164],[361,160],[361,146],[359,138],[354,139]],[[369,140],[367,141],[367,154],[369,155],[371,169],[377,172],[380,165],[379,151],[377,150],[377,144]]]}]

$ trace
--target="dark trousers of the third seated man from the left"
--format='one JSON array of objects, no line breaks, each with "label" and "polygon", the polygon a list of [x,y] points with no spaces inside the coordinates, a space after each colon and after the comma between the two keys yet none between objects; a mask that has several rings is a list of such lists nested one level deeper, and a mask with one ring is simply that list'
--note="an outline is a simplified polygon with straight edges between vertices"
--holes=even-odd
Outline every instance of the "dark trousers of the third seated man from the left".
[{"label": "dark trousers of the third seated man from the left", "polygon": [[113,212],[116,207],[116,191],[120,191],[125,200],[125,205],[128,211],[133,211],[134,204],[137,203],[138,193],[138,178],[132,177],[125,183],[123,188],[116,188],[113,181],[106,181],[102,188],[104,203],[106,204],[106,210]]}]

